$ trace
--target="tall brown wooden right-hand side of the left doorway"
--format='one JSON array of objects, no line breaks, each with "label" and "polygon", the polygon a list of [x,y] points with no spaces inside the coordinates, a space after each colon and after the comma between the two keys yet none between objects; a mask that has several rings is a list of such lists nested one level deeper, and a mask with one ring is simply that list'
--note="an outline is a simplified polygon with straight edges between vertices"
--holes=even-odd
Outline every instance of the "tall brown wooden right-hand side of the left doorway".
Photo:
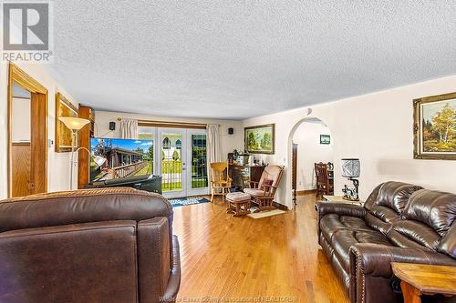
[{"label": "tall brown wooden right-hand side of the left doorway", "polygon": [[32,93],[30,194],[47,192],[47,96]]}]

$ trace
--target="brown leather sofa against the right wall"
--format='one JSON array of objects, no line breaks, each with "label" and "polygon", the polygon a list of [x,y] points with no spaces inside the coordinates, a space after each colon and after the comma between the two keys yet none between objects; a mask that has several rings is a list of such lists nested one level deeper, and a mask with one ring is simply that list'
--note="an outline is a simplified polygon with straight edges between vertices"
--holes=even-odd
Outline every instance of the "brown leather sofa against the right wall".
[{"label": "brown leather sofa against the right wall", "polygon": [[351,302],[402,302],[390,262],[456,266],[456,195],[386,182],[364,207],[316,208],[318,242]]}]

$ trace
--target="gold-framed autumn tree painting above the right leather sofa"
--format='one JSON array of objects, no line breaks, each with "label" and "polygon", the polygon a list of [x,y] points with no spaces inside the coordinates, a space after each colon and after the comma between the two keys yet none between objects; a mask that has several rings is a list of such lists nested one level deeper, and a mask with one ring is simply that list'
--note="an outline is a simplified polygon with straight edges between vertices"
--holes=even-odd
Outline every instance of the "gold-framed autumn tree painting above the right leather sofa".
[{"label": "gold-framed autumn tree painting above the right leather sofa", "polygon": [[456,93],[413,100],[416,159],[456,160]]}]

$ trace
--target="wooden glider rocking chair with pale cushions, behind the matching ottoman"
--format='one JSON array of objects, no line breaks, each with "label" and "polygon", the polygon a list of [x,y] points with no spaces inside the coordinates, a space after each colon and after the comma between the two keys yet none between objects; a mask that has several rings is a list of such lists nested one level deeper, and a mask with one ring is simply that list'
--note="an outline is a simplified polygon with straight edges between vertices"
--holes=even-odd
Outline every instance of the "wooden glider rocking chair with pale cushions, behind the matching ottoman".
[{"label": "wooden glider rocking chair with pale cushions, behind the matching ottoman", "polygon": [[244,193],[249,194],[252,197],[251,202],[258,205],[260,211],[275,209],[275,207],[273,207],[275,191],[279,186],[283,173],[284,167],[264,167],[260,181],[249,181],[250,188],[244,188]]}]

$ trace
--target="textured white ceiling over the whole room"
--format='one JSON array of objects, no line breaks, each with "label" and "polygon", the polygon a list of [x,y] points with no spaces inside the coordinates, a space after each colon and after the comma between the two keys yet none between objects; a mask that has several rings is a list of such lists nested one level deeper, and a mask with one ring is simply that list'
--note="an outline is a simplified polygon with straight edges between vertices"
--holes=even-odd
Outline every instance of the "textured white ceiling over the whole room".
[{"label": "textured white ceiling over the whole room", "polygon": [[57,79],[98,109],[241,119],[456,73],[456,1],[58,0]]}]

